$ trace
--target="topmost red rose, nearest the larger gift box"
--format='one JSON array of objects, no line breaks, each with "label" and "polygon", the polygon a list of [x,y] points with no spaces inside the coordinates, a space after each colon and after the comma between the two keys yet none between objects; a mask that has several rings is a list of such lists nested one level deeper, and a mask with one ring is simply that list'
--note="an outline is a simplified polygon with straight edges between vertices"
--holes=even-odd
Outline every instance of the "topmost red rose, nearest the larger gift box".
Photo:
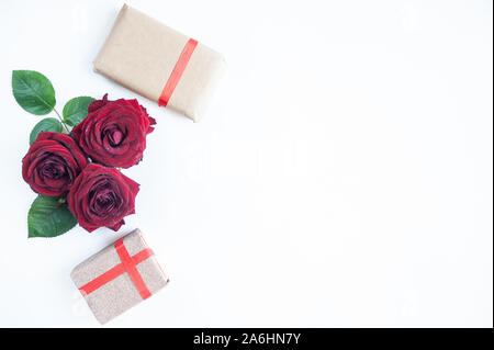
[{"label": "topmost red rose, nearest the larger gift box", "polygon": [[146,135],[156,121],[137,100],[92,102],[88,115],[72,129],[72,136],[92,161],[130,168],[143,158]]}]

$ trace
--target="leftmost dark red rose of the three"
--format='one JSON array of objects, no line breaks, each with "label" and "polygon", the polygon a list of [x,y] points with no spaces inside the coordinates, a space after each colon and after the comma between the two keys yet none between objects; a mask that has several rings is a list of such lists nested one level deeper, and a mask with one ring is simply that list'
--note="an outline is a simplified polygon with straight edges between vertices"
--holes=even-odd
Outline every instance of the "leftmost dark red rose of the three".
[{"label": "leftmost dark red rose of the three", "polygon": [[61,133],[41,133],[22,159],[22,177],[34,192],[66,194],[88,159],[76,142]]}]

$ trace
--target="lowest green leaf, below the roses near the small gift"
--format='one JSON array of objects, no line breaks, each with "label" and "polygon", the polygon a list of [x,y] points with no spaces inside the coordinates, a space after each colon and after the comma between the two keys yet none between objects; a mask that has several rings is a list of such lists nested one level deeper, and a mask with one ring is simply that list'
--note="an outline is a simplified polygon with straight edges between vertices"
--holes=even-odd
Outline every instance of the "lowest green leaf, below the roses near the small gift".
[{"label": "lowest green leaf, below the roses near the small gift", "polygon": [[77,221],[64,200],[38,195],[27,214],[29,237],[56,237],[76,226]]}]

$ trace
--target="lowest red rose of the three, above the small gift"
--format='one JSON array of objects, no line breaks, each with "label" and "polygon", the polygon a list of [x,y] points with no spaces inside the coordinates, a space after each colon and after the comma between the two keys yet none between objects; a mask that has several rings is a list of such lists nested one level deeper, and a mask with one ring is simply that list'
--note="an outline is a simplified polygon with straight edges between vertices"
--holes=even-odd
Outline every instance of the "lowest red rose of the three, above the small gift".
[{"label": "lowest red rose of the three, above the small gift", "polygon": [[138,191],[139,184],[115,168],[90,163],[74,182],[67,203],[79,225],[90,233],[102,226],[119,230],[124,216],[135,213]]}]

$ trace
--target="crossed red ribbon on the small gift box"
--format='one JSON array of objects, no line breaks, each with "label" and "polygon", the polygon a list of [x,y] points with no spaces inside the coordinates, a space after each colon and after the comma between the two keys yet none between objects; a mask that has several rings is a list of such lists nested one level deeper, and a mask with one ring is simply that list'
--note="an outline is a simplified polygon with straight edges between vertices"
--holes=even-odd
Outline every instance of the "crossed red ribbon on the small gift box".
[{"label": "crossed red ribbon on the small gift box", "polygon": [[79,291],[82,293],[82,295],[86,296],[98,290],[103,284],[113,281],[122,273],[127,272],[128,275],[131,276],[132,282],[137,289],[137,292],[139,292],[141,297],[143,300],[148,298],[151,295],[151,293],[147,289],[146,283],[144,283],[143,276],[137,271],[136,266],[146,260],[147,258],[151,257],[154,255],[153,250],[146,248],[136,253],[135,256],[131,257],[128,255],[127,249],[125,248],[125,245],[123,244],[123,238],[120,238],[117,241],[115,241],[114,246],[122,263],[119,263],[116,267],[108,270],[106,272],[96,278],[91,282],[82,285],[79,289]]}]

